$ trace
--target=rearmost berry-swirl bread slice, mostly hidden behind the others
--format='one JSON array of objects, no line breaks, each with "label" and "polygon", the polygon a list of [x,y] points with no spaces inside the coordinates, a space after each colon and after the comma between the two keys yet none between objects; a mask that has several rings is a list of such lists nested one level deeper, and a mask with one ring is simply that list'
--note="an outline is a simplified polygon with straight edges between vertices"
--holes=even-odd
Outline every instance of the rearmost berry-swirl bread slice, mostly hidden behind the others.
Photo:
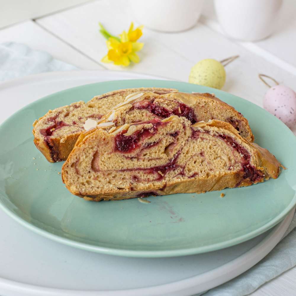
[{"label": "rearmost berry-swirl bread slice, mostly hidden behind the others", "polygon": [[78,136],[84,131],[86,119],[99,120],[112,107],[125,100],[126,96],[137,91],[153,91],[166,94],[177,89],[142,87],[119,89],[100,96],[89,102],[75,102],[68,106],[49,110],[33,123],[34,143],[49,162],[66,160]]}]

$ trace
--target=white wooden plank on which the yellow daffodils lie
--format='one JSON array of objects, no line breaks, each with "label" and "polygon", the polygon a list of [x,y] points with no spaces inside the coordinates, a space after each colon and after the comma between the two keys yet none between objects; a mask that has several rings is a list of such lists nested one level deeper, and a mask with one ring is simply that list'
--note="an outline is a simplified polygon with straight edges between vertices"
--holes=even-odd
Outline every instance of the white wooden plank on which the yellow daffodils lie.
[{"label": "white wooden plank on which the yellow daffodils lie", "polygon": [[[36,20],[47,30],[54,32],[67,43],[85,52],[92,59],[100,62],[107,53],[105,39],[99,33],[98,22],[102,22],[110,32],[119,34],[127,30],[131,20],[130,9],[125,1],[95,1],[79,8],[50,15]],[[144,49],[139,53],[141,62],[121,68],[112,64],[103,64],[111,70],[132,70],[152,75],[165,76],[177,80],[187,80],[190,63],[172,50],[167,50],[150,38],[147,30],[141,41]]]}]

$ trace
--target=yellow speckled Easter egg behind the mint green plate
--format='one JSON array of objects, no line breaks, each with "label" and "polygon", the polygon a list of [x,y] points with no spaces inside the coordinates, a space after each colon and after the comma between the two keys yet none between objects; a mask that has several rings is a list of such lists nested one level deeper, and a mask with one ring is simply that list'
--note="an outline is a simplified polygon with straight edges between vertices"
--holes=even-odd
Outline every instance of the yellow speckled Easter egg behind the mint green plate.
[{"label": "yellow speckled Easter egg behind the mint green plate", "polygon": [[223,65],[215,59],[203,59],[191,68],[189,82],[221,89],[226,73]]}]

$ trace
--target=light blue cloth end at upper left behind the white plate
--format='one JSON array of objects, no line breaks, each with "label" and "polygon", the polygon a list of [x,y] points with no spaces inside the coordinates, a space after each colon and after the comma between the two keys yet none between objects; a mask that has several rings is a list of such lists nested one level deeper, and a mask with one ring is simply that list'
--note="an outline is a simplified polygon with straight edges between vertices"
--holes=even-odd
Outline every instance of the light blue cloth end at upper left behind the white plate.
[{"label": "light blue cloth end at upper left behind the white plate", "polygon": [[47,52],[30,49],[25,44],[0,44],[0,81],[50,71],[77,70],[77,67],[54,59]]}]

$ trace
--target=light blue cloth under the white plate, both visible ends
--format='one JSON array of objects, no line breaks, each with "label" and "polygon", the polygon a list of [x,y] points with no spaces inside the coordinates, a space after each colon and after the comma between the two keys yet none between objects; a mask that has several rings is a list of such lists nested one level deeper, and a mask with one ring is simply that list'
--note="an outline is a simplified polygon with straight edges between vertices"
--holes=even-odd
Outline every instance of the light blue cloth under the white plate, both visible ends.
[{"label": "light blue cloth under the white plate, both visible ends", "polygon": [[[46,52],[24,44],[0,44],[0,81],[49,71],[76,70],[75,66],[54,59]],[[289,234],[289,235],[288,235]],[[296,265],[296,213],[277,246],[254,267],[203,296],[244,296]],[[199,294],[200,295],[200,294]]]}]

